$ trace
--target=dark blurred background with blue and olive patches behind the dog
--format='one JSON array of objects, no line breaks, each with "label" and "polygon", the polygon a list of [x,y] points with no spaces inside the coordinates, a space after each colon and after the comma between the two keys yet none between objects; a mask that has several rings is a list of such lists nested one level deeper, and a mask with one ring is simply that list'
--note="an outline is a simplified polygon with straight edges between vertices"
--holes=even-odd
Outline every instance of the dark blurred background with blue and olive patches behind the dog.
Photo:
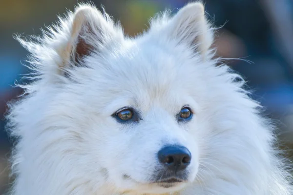
[{"label": "dark blurred background with blue and olive patches behind the dog", "polygon": [[[209,19],[222,26],[217,34],[217,55],[252,61],[228,60],[253,90],[266,114],[278,126],[279,146],[293,149],[293,1],[203,0]],[[0,0],[0,194],[9,187],[8,158],[12,142],[4,131],[6,103],[21,94],[14,87],[27,69],[21,65],[27,52],[13,34],[38,35],[40,28],[57,20],[65,9],[81,0]],[[170,8],[173,12],[188,0],[92,0],[97,7],[121,20],[131,36],[147,28],[149,17]],[[29,115],[29,113],[28,113]]]}]

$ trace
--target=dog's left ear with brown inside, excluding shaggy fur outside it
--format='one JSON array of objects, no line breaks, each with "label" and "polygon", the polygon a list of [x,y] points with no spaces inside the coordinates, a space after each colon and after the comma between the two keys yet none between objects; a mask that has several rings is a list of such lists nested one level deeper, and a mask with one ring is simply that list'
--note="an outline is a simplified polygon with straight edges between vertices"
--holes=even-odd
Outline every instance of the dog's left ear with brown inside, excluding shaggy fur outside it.
[{"label": "dog's left ear with brown inside, excluding shaggy fur outside it", "polygon": [[59,51],[63,59],[61,68],[86,66],[83,59],[91,53],[102,52],[114,40],[119,42],[124,35],[119,26],[108,15],[89,5],[81,5],[71,20],[69,39],[65,48]]}]

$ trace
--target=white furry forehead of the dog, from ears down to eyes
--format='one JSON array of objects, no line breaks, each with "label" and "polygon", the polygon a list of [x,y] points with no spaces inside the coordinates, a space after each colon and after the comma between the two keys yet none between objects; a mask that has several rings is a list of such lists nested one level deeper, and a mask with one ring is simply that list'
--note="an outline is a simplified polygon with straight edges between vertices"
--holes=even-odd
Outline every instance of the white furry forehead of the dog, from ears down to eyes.
[{"label": "white furry forehead of the dog, from ears down to eyes", "polygon": [[103,65],[107,68],[96,70],[96,85],[103,90],[99,98],[107,98],[104,105],[116,102],[106,110],[133,105],[142,111],[159,106],[177,112],[184,104],[191,104],[188,65],[160,48],[135,48],[106,59]]}]

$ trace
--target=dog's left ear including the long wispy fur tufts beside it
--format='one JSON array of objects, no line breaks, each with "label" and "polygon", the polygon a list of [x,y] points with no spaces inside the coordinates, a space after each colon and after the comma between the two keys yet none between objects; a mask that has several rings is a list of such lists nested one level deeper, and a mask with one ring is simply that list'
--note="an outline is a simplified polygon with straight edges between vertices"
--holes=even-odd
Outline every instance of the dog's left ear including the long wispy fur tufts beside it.
[{"label": "dog's left ear including the long wispy fur tufts beside it", "polygon": [[74,67],[87,67],[87,56],[111,49],[124,39],[124,33],[106,13],[92,5],[79,4],[74,13],[60,18],[58,25],[49,27],[42,37],[16,39],[31,53],[30,67],[38,75],[32,79],[54,81]]}]

